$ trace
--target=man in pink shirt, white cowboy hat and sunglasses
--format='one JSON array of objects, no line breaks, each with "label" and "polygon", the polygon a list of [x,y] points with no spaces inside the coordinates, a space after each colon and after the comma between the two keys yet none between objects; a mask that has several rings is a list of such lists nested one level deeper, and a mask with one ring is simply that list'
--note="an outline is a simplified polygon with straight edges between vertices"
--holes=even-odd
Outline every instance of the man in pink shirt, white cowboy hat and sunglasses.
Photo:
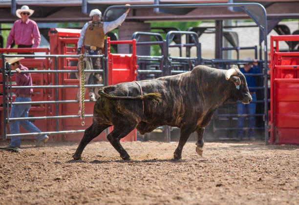
[{"label": "man in pink shirt, white cowboy hat and sunglasses", "polygon": [[15,21],[7,38],[6,48],[10,48],[13,41],[18,48],[36,48],[41,42],[39,28],[35,21],[29,19],[34,10],[24,5],[16,11],[20,20]]}]

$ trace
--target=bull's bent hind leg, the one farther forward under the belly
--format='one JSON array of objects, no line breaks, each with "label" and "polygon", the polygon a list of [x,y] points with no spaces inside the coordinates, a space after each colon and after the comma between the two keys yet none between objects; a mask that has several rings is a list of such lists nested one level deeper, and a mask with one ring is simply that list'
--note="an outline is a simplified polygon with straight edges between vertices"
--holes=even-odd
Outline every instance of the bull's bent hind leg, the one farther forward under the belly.
[{"label": "bull's bent hind leg, the one farther forward under the belly", "polygon": [[126,137],[134,128],[135,126],[128,124],[114,126],[112,132],[110,132],[110,134],[108,134],[107,136],[107,139],[112,144],[112,146],[119,152],[120,157],[123,160],[130,161],[131,158],[119,141],[120,139]]}]

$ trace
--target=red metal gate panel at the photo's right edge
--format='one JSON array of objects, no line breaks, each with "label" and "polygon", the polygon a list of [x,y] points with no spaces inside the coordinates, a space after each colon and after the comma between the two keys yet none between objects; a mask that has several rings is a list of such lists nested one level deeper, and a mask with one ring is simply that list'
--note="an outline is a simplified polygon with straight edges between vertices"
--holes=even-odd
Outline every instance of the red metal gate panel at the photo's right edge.
[{"label": "red metal gate panel at the photo's right edge", "polygon": [[279,41],[299,35],[271,36],[270,143],[299,144],[299,52],[279,52]]}]

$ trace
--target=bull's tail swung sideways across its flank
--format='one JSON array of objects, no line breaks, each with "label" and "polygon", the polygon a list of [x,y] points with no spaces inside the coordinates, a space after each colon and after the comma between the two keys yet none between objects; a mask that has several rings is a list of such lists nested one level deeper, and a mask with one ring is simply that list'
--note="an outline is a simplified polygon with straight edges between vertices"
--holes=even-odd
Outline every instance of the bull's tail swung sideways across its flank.
[{"label": "bull's tail swung sideways across its flank", "polygon": [[104,89],[101,88],[99,90],[99,95],[101,97],[104,98],[108,98],[108,99],[119,99],[119,100],[152,100],[153,102],[155,102],[156,104],[158,104],[159,102],[161,102],[161,93],[149,93],[146,95],[138,95],[136,97],[132,97],[132,96],[113,96],[113,95],[109,95],[107,93],[104,92]]}]

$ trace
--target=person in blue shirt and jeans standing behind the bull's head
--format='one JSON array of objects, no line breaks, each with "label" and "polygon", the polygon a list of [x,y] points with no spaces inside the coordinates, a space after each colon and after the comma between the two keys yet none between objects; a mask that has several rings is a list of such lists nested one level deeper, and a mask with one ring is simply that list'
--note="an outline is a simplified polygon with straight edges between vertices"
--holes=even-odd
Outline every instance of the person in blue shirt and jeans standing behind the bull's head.
[{"label": "person in blue shirt and jeans standing behind the bull's head", "polygon": [[[247,61],[248,63],[244,64],[244,68],[240,69],[240,71],[245,74],[246,82],[249,87],[249,92],[252,97],[252,101],[249,104],[243,104],[243,103],[238,103],[237,104],[237,111],[238,114],[249,114],[249,115],[254,115],[256,114],[256,89],[250,89],[250,87],[256,87],[256,77],[255,76],[247,76],[246,74],[255,74],[255,73],[260,73],[260,68],[257,64],[257,60],[251,60],[249,57],[244,58],[244,61]],[[250,61],[254,61],[253,63]],[[256,125],[256,120],[255,116],[249,116],[248,117],[248,127],[249,128],[254,128]],[[238,128],[243,128],[244,127],[244,117],[238,117]],[[237,131],[237,141],[241,141],[244,136],[244,130],[240,129]],[[254,129],[249,129],[248,130],[248,137],[249,140],[254,141],[255,140],[255,130]]]}]

